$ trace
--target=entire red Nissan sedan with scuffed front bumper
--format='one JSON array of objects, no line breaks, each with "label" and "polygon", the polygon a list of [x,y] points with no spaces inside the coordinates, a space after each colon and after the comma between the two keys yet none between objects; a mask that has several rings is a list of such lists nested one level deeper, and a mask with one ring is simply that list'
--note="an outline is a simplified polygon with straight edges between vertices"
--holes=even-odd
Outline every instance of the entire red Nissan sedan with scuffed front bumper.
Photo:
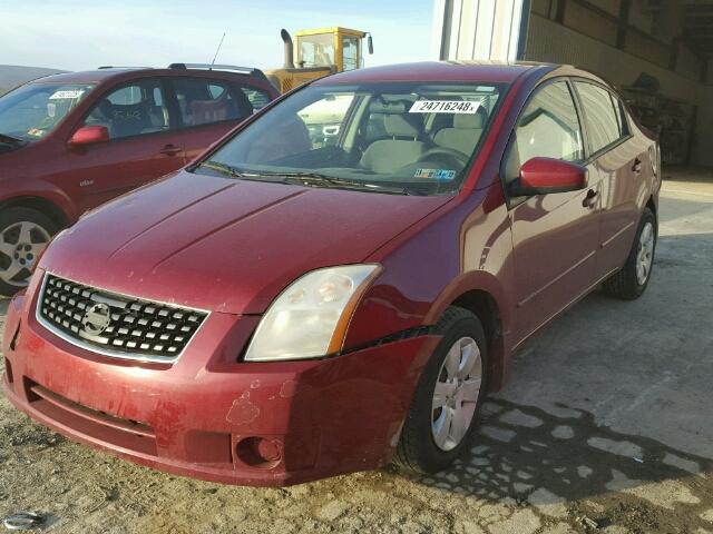
[{"label": "entire red Nissan sedan with scuffed front bumper", "polygon": [[658,160],[572,67],[323,78],[61,233],[10,305],[6,394],[211,481],[441,469],[528,336],[644,291]]}]

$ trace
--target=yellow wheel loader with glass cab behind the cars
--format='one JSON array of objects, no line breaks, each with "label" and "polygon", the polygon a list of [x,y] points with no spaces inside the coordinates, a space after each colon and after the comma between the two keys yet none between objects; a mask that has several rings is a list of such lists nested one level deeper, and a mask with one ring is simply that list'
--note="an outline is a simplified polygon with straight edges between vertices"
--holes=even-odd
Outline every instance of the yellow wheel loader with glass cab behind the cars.
[{"label": "yellow wheel loader with glass cab behind the cars", "polygon": [[301,30],[295,34],[296,46],[287,30],[283,29],[280,36],[285,47],[285,65],[282,69],[265,70],[265,75],[281,92],[315,78],[362,67],[364,38],[369,53],[373,53],[371,34],[348,28]]}]

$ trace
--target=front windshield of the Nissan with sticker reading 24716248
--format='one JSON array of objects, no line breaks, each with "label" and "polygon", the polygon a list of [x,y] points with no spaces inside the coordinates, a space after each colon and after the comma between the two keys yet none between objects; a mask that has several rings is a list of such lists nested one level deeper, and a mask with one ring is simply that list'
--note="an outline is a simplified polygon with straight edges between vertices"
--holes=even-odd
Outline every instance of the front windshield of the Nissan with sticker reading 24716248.
[{"label": "front windshield of the Nissan with sticker reading 24716248", "polygon": [[478,83],[310,86],[257,118],[199,168],[380,192],[452,191],[502,90]]}]

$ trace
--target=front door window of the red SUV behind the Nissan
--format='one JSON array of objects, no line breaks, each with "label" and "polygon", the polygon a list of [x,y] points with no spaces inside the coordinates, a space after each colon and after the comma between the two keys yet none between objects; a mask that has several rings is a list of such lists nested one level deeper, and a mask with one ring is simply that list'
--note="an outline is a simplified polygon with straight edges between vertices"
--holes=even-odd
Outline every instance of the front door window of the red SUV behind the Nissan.
[{"label": "front door window of the red SUV behind the Nissan", "polygon": [[168,130],[168,109],[158,80],[140,80],[102,98],[85,119],[105,126],[111,139]]}]

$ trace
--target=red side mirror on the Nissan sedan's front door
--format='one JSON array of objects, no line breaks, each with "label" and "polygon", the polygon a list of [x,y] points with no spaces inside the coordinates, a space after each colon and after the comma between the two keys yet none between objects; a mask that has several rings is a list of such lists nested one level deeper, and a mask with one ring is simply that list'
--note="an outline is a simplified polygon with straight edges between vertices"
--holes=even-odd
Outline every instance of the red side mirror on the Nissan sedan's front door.
[{"label": "red side mirror on the Nissan sedan's front door", "polygon": [[515,197],[578,191],[587,187],[587,168],[551,158],[528,159],[509,192]]}]

